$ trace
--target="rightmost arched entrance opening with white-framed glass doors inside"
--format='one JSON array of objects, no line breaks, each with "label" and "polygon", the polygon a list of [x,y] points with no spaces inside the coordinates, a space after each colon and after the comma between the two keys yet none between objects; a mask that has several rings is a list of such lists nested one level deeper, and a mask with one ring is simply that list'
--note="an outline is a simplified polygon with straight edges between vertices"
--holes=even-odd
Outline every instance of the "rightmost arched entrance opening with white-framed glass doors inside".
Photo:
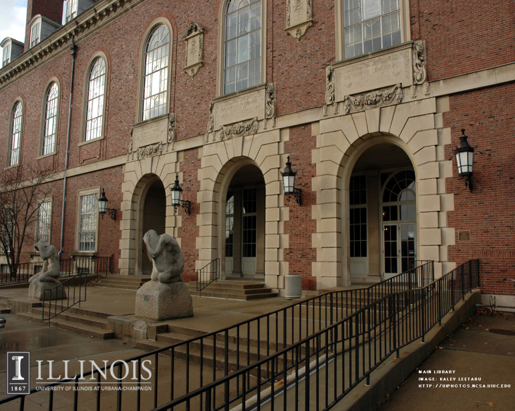
[{"label": "rightmost arched entrance opening with white-framed glass doors inside", "polygon": [[351,282],[379,282],[413,267],[416,175],[408,155],[389,141],[369,145],[357,158],[348,187]]}]

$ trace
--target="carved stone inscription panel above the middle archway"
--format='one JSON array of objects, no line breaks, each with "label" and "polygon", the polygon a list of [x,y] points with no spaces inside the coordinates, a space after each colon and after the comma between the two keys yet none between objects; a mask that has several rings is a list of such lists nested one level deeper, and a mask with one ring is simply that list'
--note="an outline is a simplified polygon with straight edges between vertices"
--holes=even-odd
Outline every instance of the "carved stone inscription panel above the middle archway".
[{"label": "carved stone inscription panel above the middle archway", "polygon": [[214,129],[243,120],[265,118],[265,88],[213,102]]}]

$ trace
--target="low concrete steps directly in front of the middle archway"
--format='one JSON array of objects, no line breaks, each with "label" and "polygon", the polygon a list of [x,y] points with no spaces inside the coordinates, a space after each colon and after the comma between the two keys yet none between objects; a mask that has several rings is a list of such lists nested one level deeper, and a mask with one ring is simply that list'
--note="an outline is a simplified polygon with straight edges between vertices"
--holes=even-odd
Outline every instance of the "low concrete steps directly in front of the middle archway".
[{"label": "low concrete steps directly in front of the middle archway", "polygon": [[[187,286],[191,295],[199,295],[196,282],[187,283]],[[218,280],[204,288],[200,295],[202,297],[230,298],[232,300],[259,300],[260,298],[277,297],[278,293],[266,288],[263,283],[259,282]]]}]

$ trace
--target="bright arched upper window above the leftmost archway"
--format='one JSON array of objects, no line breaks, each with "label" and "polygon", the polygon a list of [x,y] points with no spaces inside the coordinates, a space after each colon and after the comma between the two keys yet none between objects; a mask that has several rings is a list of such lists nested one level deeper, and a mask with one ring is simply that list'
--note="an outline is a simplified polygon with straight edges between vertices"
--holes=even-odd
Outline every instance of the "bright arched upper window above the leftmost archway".
[{"label": "bright arched upper window above the leftmost archway", "polygon": [[142,120],[166,113],[168,101],[168,66],[170,33],[166,26],[156,27],[145,49]]}]

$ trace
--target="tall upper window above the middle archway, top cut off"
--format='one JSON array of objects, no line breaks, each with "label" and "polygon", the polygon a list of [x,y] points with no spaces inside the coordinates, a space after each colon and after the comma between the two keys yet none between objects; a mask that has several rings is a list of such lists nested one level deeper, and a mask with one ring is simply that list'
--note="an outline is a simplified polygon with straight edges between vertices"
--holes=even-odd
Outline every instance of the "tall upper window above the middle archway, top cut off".
[{"label": "tall upper window above the middle archway, top cut off", "polygon": [[228,2],[224,50],[224,94],[261,83],[261,0]]}]

